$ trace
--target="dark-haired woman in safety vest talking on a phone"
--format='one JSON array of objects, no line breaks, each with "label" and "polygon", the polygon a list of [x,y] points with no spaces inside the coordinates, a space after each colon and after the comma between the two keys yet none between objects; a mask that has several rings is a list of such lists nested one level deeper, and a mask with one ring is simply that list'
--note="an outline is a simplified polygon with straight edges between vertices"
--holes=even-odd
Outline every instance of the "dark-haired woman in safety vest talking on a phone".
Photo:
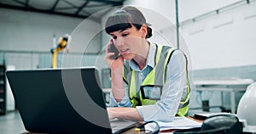
[{"label": "dark-haired woman in safety vest talking on a phone", "polygon": [[[110,15],[105,31],[112,36],[105,56],[112,78],[109,118],[172,121],[186,114],[190,89],[184,54],[148,42],[152,30],[134,7]],[[119,50],[117,59],[111,58],[111,42]]]}]

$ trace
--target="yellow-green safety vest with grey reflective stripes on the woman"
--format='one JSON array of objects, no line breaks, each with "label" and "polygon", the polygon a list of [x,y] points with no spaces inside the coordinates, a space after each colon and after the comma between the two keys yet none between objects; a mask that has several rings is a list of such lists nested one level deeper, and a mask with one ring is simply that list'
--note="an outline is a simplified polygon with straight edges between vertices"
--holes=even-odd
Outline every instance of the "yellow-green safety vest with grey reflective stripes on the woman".
[{"label": "yellow-green safety vest with grey reflective stripes on the woman", "polygon": [[[143,80],[143,83],[137,87],[137,75],[138,73],[135,70],[131,70],[130,65],[125,61],[123,68],[123,79],[128,85],[128,95],[130,98],[133,107],[140,105],[154,104],[160,98],[148,98],[146,92],[152,90],[156,93],[162,92],[162,87],[166,83],[166,66],[169,63],[172,53],[175,51],[173,47],[169,46],[158,46],[153,44],[156,47],[156,54],[154,57],[154,68],[149,72],[146,78]],[[186,56],[185,56],[186,58]],[[189,79],[188,79],[188,67],[187,67],[187,58],[186,58],[186,75],[187,75],[187,91],[183,93],[183,97],[179,103],[177,115],[183,116],[188,113],[189,110]]]}]

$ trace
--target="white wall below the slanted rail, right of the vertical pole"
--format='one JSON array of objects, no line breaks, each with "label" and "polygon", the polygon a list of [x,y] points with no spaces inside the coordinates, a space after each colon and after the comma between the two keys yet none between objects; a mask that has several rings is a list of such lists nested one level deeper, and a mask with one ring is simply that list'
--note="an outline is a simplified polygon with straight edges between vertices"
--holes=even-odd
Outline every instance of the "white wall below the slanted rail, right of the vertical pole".
[{"label": "white wall below the slanted rail, right of the vertical pole", "polygon": [[208,15],[181,27],[194,70],[256,64],[256,3]]}]

